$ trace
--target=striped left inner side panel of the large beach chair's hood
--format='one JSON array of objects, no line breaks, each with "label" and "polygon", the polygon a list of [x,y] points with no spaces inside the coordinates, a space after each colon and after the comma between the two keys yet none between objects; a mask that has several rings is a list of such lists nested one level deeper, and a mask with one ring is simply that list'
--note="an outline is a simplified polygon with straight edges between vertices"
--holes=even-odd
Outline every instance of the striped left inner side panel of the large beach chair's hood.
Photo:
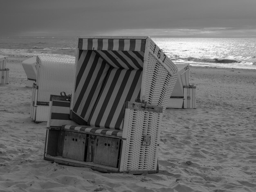
[{"label": "striped left inner side panel of the large beach chair's hood", "polygon": [[77,63],[73,112],[88,121],[109,65],[93,51],[83,51]]}]

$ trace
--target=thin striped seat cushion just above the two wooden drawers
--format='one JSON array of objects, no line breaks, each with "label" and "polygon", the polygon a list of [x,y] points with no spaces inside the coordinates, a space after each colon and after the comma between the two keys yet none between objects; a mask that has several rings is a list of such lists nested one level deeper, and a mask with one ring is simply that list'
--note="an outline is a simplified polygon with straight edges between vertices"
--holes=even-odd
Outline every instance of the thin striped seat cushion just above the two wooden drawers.
[{"label": "thin striped seat cushion just above the two wooden drawers", "polygon": [[78,126],[78,125],[63,125],[65,131],[77,131],[84,132],[85,134],[103,134],[109,136],[116,136],[122,138],[123,132],[115,129],[103,129],[99,127],[89,127],[89,126]]}]

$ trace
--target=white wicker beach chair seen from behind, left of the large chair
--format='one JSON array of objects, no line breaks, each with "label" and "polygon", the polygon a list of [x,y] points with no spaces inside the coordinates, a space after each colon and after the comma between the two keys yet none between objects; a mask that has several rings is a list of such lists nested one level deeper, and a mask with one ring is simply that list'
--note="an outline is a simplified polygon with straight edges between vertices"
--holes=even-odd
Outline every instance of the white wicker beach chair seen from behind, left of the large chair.
[{"label": "white wicker beach chair seen from behind, left of the large chair", "polygon": [[35,122],[47,122],[51,94],[72,93],[74,58],[37,56],[36,83],[32,87],[30,117]]}]

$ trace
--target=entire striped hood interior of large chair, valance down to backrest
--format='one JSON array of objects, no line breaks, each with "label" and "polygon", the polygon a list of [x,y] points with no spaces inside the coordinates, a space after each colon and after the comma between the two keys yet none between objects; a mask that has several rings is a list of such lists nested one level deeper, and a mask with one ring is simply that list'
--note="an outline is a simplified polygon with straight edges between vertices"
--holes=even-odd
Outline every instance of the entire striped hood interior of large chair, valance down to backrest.
[{"label": "entire striped hood interior of large chair, valance down to backrest", "polygon": [[83,125],[122,129],[124,103],[140,97],[145,45],[146,38],[79,38],[72,112]]}]

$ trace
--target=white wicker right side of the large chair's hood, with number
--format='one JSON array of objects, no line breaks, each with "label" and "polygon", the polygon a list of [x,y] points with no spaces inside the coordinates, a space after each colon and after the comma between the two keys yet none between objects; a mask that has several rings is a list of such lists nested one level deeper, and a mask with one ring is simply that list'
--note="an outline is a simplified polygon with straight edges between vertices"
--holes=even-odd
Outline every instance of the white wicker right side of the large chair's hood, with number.
[{"label": "white wicker right side of the large chair's hood, with number", "polygon": [[177,80],[178,69],[149,38],[146,42],[141,100],[165,110]]}]

